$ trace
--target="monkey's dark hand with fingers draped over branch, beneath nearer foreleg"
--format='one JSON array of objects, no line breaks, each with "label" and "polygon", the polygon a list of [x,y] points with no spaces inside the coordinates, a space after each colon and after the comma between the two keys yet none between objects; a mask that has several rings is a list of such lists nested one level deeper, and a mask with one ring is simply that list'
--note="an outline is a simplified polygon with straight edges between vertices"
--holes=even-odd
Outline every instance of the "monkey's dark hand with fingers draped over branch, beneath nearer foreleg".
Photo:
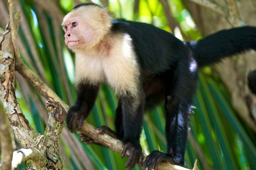
[{"label": "monkey's dark hand with fingers draped over branch, beneath nearer foreleg", "polygon": [[139,147],[135,147],[130,142],[124,144],[124,149],[122,151],[122,158],[125,157],[125,154],[129,150],[129,157],[125,164],[126,170],[131,170],[135,167],[136,163],[138,163],[138,166],[142,165],[143,162],[143,153],[142,148],[139,144]]}]

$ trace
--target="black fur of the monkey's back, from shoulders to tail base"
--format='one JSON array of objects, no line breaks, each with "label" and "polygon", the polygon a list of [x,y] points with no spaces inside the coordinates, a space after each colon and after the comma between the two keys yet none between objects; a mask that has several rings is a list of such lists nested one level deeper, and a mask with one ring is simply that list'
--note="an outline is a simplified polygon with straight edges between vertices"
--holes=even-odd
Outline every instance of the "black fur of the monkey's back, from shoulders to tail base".
[{"label": "black fur of the monkey's back, from shoulders to tail base", "polygon": [[184,42],[151,24],[115,19],[111,31],[113,34],[122,33],[131,37],[140,66],[151,73],[171,69],[188,51]]}]

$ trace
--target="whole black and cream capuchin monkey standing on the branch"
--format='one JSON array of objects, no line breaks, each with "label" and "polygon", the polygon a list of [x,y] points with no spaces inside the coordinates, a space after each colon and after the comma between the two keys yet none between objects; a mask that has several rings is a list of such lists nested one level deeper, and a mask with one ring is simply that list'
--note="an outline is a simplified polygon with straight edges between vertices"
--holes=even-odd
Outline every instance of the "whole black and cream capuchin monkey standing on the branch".
[{"label": "whole black and cream capuchin monkey standing on the branch", "polygon": [[[123,141],[122,158],[127,150],[130,153],[127,170],[136,163],[149,170],[156,169],[161,161],[184,165],[198,68],[256,49],[255,27],[223,30],[199,41],[182,42],[150,24],[111,21],[108,12],[93,3],[75,6],[64,17],[62,27],[65,43],[76,57],[77,99],[68,111],[68,128],[76,132],[82,127],[94,106],[100,83],[109,84],[119,97],[116,131],[103,126],[97,133]],[[143,112],[161,101],[165,108],[167,152],[153,151],[143,163]],[[98,142],[85,135],[80,137],[85,144]]]}]

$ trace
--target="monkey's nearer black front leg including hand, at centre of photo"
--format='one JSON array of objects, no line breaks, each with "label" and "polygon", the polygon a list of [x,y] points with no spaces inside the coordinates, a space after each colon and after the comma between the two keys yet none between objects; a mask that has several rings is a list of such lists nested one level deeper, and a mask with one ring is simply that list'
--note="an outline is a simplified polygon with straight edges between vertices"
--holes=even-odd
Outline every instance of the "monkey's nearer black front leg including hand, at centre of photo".
[{"label": "monkey's nearer black front leg including hand, at centre of photo", "polygon": [[144,96],[133,97],[127,94],[121,97],[121,102],[124,130],[122,158],[125,157],[127,150],[129,150],[130,155],[125,167],[126,170],[131,170],[136,163],[140,166],[143,162],[140,134],[143,123]]}]

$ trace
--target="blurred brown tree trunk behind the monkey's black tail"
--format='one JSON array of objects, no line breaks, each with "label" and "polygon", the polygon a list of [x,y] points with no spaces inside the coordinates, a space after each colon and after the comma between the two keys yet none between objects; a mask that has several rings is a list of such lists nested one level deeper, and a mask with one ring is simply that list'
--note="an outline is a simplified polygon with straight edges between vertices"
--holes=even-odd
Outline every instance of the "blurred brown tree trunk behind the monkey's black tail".
[{"label": "blurred brown tree trunk behind the monkey's black tail", "polygon": [[[182,1],[194,18],[203,37],[245,24],[256,26],[255,0]],[[255,63],[254,50],[226,58],[219,63],[219,72],[221,73],[219,75],[231,94],[234,109],[254,132],[256,132],[256,97],[247,86],[247,75],[249,71],[256,69]]]}]

